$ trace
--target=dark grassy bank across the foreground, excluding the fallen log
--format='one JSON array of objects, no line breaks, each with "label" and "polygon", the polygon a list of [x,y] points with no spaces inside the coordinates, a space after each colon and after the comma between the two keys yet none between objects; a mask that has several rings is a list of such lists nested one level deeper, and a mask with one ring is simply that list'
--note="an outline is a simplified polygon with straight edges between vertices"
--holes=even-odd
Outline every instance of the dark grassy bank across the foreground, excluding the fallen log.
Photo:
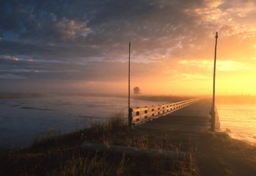
[{"label": "dark grassy bank across the foreground, excluding the fallen log", "polygon": [[[38,137],[25,149],[0,152],[0,175],[254,175],[256,148],[228,135],[207,132],[200,140],[177,142],[171,134],[150,135],[129,130],[123,113],[90,128]],[[185,151],[192,162],[160,157],[137,157],[126,153],[98,153],[80,149],[84,142]]]}]

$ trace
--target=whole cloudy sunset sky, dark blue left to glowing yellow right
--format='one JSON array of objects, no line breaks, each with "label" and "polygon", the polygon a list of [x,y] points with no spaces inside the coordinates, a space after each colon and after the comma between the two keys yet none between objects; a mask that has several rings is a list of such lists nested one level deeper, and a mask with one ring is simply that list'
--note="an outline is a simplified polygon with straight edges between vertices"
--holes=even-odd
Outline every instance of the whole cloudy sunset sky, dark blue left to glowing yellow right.
[{"label": "whole cloudy sunset sky, dark blue left to glowing yellow right", "polygon": [[255,0],[0,0],[0,92],[256,95]]}]

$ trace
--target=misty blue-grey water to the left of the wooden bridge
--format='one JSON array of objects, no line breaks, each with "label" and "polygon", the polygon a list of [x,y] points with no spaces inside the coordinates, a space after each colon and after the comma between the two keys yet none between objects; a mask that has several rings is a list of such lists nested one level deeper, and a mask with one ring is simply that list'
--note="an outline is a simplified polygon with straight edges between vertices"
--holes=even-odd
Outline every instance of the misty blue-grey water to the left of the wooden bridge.
[{"label": "misty blue-grey water to the left of the wooden bridge", "polygon": [[[164,102],[131,100],[131,107]],[[54,128],[69,132],[104,122],[114,111],[127,114],[127,98],[44,97],[0,100],[0,148],[26,147],[37,135]]]}]

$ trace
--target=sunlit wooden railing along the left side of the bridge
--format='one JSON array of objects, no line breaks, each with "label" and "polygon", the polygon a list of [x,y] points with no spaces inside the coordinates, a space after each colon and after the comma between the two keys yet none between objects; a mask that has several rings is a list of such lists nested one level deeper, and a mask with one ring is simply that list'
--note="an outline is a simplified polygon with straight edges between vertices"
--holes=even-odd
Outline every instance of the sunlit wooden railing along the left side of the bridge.
[{"label": "sunlit wooden railing along the left side of the bridge", "polygon": [[196,101],[201,100],[200,98],[193,98],[190,100],[184,100],[179,102],[174,102],[170,104],[156,105],[144,108],[130,109],[131,113],[131,125],[139,125],[146,121],[151,121],[154,118],[164,116],[166,114],[172,113],[176,110],[184,108],[185,106],[191,105]]}]

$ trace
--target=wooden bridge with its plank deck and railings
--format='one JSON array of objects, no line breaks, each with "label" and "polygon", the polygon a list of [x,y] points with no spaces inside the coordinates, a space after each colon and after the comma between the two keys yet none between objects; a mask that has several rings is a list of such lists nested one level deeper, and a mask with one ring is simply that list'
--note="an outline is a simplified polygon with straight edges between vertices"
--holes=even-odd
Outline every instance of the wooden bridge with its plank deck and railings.
[{"label": "wooden bridge with its plank deck and railings", "polygon": [[[183,135],[204,133],[210,127],[209,112],[211,104],[212,102],[209,99],[193,98],[171,104],[136,108],[132,110],[132,124],[133,126],[137,126],[150,121],[137,128],[153,131],[168,131]],[[216,118],[215,123],[219,129],[220,122],[218,118]]]}]

